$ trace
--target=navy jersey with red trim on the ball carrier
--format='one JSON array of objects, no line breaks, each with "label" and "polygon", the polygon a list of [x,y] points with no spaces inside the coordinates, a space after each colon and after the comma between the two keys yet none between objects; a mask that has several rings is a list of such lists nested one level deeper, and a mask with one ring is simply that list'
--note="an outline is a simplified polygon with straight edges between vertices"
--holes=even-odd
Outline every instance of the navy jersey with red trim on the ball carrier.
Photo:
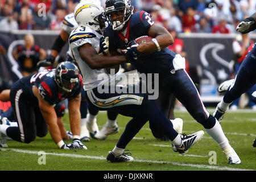
[{"label": "navy jersey with red trim on the ball carrier", "polygon": [[[154,25],[154,20],[150,14],[145,11],[137,11],[131,15],[125,37],[121,32],[114,31],[112,26],[106,28],[104,36],[109,37],[110,49],[125,49],[129,47],[132,40],[141,36],[148,36],[148,31],[152,25]],[[168,72],[173,69],[172,60],[174,57],[175,53],[165,48],[159,52],[141,57],[141,63],[134,64],[134,67],[141,73]]]}]

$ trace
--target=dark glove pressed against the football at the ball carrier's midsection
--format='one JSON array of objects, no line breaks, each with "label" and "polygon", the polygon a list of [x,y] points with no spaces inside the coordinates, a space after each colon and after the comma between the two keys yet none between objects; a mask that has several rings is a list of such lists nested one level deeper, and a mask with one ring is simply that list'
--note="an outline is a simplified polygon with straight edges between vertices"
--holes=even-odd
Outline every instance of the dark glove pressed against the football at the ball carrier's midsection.
[{"label": "dark glove pressed against the football at the ball carrier's midsection", "polygon": [[127,52],[125,53],[125,57],[127,59],[127,63],[138,63],[138,59],[141,56],[141,52],[138,51],[137,44],[134,40],[131,42],[131,47],[127,48]]}]

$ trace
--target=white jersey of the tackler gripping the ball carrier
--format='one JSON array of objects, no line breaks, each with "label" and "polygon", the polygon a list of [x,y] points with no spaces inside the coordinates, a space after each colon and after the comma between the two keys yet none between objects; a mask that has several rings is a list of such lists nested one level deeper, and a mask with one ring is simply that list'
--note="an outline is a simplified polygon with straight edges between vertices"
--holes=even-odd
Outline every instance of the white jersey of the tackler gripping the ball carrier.
[{"label": "white jersey of the tackler gripping the ball carrier", "polygon": [[89,65],[81,59],[78,50],[80,46],[90,44],[98,53],[100,51],[101,37],[101,34],[85,26],[77,27],[69,36],[69,47],[71,48],[74,60],[79,65],[85,91],[96,88],[100,82],[110,77],[106,69],[91,69]]}]

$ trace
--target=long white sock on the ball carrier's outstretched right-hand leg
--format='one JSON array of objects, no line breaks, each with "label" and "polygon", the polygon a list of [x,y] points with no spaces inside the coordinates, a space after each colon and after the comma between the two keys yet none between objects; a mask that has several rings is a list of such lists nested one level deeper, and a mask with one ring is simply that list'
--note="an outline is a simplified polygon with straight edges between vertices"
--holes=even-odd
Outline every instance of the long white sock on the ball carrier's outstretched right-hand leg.
[{"label": "long white sock on the ball carrier's outstretched right-hand leg", "polygon": [[226,138],[220,123],[216,120],[215,125],[211,129],[205,129],[221,148],[228,146],[229,140]]}]

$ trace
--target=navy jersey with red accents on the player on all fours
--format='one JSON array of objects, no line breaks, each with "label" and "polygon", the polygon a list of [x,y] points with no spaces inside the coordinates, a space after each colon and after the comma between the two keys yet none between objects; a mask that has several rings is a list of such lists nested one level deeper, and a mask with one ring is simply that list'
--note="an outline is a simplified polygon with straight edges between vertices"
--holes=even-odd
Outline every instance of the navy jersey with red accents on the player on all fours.
[{"label": "navy jersey with red accents on the player on all fours", "polygon": [[82,90],[82,79],[80,76],[80,84],[71,93],[62,92],[54,80],[55,69],[45,70],[31,76],[21,78],[20,85],[24,91],[27,101],[31,105],[38,106],[38,99],[32,93],[32,87],[35,85],[40,96],[50,105],[57,104],[66,98],[78,96]]}]

